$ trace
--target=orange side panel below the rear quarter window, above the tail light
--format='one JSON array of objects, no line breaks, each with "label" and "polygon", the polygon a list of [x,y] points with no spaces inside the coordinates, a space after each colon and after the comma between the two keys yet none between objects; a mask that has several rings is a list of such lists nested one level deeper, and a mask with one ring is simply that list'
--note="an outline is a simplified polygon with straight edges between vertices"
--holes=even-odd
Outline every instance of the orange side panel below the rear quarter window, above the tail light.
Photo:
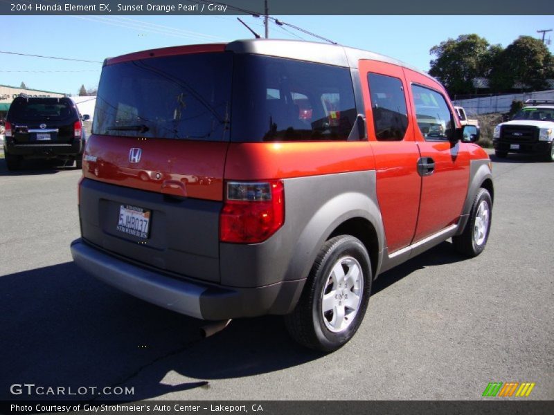
[{"label": "orange side panel below the rear quarter window, above the tail light", "polygon": [[225,178],[265,180],[358,172],[375,168],[367,142],[231,143]]}]

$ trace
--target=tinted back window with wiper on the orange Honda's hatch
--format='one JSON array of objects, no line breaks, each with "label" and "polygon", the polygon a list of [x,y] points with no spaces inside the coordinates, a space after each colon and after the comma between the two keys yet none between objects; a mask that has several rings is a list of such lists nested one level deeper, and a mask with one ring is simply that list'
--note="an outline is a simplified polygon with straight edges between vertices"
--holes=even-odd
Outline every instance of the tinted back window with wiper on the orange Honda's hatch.
[{"label": "tinted back window with wiper on the orange Honda's hatch", "polygon": [[105,66],[93,133],[228,140],[232,59],[200,53]]}]

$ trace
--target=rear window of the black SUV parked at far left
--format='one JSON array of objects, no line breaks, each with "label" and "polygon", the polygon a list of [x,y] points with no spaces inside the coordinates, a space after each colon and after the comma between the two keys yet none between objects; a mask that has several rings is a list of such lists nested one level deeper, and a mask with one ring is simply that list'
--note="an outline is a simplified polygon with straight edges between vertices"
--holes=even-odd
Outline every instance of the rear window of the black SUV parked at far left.
[{"label": "rear window of the black SUV parked at far left", "polygon": [[73,103],[63,98],[16,98],[10,105],[8,119],[55,121],[75,117]]}]

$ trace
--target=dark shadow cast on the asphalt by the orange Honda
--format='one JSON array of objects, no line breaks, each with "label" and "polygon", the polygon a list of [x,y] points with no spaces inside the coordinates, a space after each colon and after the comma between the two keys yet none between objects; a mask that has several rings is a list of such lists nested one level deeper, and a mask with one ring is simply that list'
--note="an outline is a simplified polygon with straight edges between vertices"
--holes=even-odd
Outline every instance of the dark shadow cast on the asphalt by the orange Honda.
[{"label": "dark shadow cast on the asphalt by the orange Honda", "polygon": [[[462,259],[450,243],[441,243],[381,275],[373,293],[414,270]],[[233,320],[206,339],[199,335],[204,324],[121,293],[84,275],[72,262],[1,276],[0,400],[155,398],[324,356],[293,342],[280,316]],[[186,378],[166,385],[170,372],[173,382],[175,374]],[[15,383],[73,391],[127,386],[134,387],[134,394],[15,396],[10,394]]]}]

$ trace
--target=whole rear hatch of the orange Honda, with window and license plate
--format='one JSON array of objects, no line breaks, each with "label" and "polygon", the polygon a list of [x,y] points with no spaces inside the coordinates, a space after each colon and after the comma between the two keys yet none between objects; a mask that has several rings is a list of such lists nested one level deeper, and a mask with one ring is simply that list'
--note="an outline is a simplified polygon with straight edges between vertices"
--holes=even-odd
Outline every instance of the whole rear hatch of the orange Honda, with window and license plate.
[{"label": "whole rear hatch of the orange Honda, with window and license plate", "polygon": [[115,62],[102,71],[84,151],[82,236],[177,277],[219,282],[232,56]]}]

